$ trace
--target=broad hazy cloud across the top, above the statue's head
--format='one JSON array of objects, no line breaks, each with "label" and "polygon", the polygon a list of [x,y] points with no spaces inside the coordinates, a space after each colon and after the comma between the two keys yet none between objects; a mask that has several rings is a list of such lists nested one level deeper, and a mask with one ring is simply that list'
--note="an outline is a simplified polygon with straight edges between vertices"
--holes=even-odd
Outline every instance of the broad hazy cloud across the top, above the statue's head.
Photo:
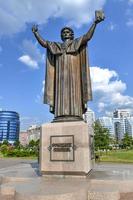
[{"label": "broad hazy cloud across the top, above the statue's head", "polygon": [[0,0],[0,35],[25,31],[27,24],[44,24],[50,18],[63,18],[80,26],[88,24],[95,10],[102,9],[106,0]]}]

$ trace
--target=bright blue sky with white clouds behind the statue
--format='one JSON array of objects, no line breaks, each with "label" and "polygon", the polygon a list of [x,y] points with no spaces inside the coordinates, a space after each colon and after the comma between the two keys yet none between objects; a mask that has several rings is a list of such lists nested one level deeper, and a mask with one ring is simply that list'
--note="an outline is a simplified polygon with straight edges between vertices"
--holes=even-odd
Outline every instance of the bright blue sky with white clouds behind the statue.
[{"label": "bright blue sky with white clouds behind the statue", "polygon": [[0,0],[0,109],[17,111],[21,129],[53,118],[42,103],[45,49],[36,42],[32,25],[39,24],[46,40],[60,41],[66,25],[79,37],[98,9],[106,19],[88,43],[89,106],[97,117],[115,108],[133,109],[133,0]]}]

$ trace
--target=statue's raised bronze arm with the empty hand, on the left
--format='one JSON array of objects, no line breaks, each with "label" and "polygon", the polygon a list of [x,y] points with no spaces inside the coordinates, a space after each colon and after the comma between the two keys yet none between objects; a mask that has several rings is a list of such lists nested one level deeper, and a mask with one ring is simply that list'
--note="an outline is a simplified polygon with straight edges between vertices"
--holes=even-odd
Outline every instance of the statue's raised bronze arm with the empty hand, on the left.
[{"label": "statue's raised bronze arm with the empty hand, on the left", "polygon": [[40,43],[40,45],[42,47],[45,47],[47,48],[47,42],[40,36],[40,34],[38,33],[38,26],[37,25],[34,25],[32,27],[32,32],[34,33],[37,41]]}]

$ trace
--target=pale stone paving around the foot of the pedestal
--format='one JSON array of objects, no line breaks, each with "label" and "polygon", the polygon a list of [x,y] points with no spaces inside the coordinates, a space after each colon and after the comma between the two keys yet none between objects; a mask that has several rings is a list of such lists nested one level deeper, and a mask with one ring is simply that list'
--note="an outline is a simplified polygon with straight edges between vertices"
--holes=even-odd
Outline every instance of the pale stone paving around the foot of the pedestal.
[{"label": "pale stone paving around the foot of the pedestal", "polygon": [[[117,196],[120,193],[120,200],[133,200],[133,165],[131,164],[110,164],[99,163],[95,165],[94,170],[87,179],[45,179],[38,175],[38,164],[36,160],[21,158],[0,159],[0,176],[2,178],[2,187],[15,188],[18,196],[16,199],[37,200],[48,196],[49,194],[61,198],[60,195],[73,195],[72,199],[87,199],[87,194],[100,195],[101,192],[109,196],[107,199],[113,200],[111,195]],[[79,192],[77,192],[79,191]],[[117,192],[118,191],[118,192]],[[89,193],[88,193],[89,192]],[[84,196],[85,195],[85,196]],[[51,198],[53,198],[51,196]],[[68,196],[67,196],[68,197]],[[80,198],[82,197],[82,198]],[[6,197],[7,198],[7,197]],[[4,199],[0,196],[0,200]],[[63,198],[64,199],[64,196]],[[69,198],[71,199],[71,198]],[[93,198],[95,199],[95,198]],[[103,200],[103,198],[102,198]]]}]

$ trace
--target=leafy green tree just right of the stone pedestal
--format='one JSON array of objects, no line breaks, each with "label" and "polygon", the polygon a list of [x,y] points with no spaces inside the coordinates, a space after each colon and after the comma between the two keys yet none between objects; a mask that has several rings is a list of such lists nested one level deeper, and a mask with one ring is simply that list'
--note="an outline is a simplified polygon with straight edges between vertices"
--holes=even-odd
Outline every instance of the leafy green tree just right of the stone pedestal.
[{"label": "leafy green tree just right of the stone pedestal", "polygon": [[94,143],[95,150],[109,149],[110,136],[109,130],[104,128],[98,121],[94,124]]}]

